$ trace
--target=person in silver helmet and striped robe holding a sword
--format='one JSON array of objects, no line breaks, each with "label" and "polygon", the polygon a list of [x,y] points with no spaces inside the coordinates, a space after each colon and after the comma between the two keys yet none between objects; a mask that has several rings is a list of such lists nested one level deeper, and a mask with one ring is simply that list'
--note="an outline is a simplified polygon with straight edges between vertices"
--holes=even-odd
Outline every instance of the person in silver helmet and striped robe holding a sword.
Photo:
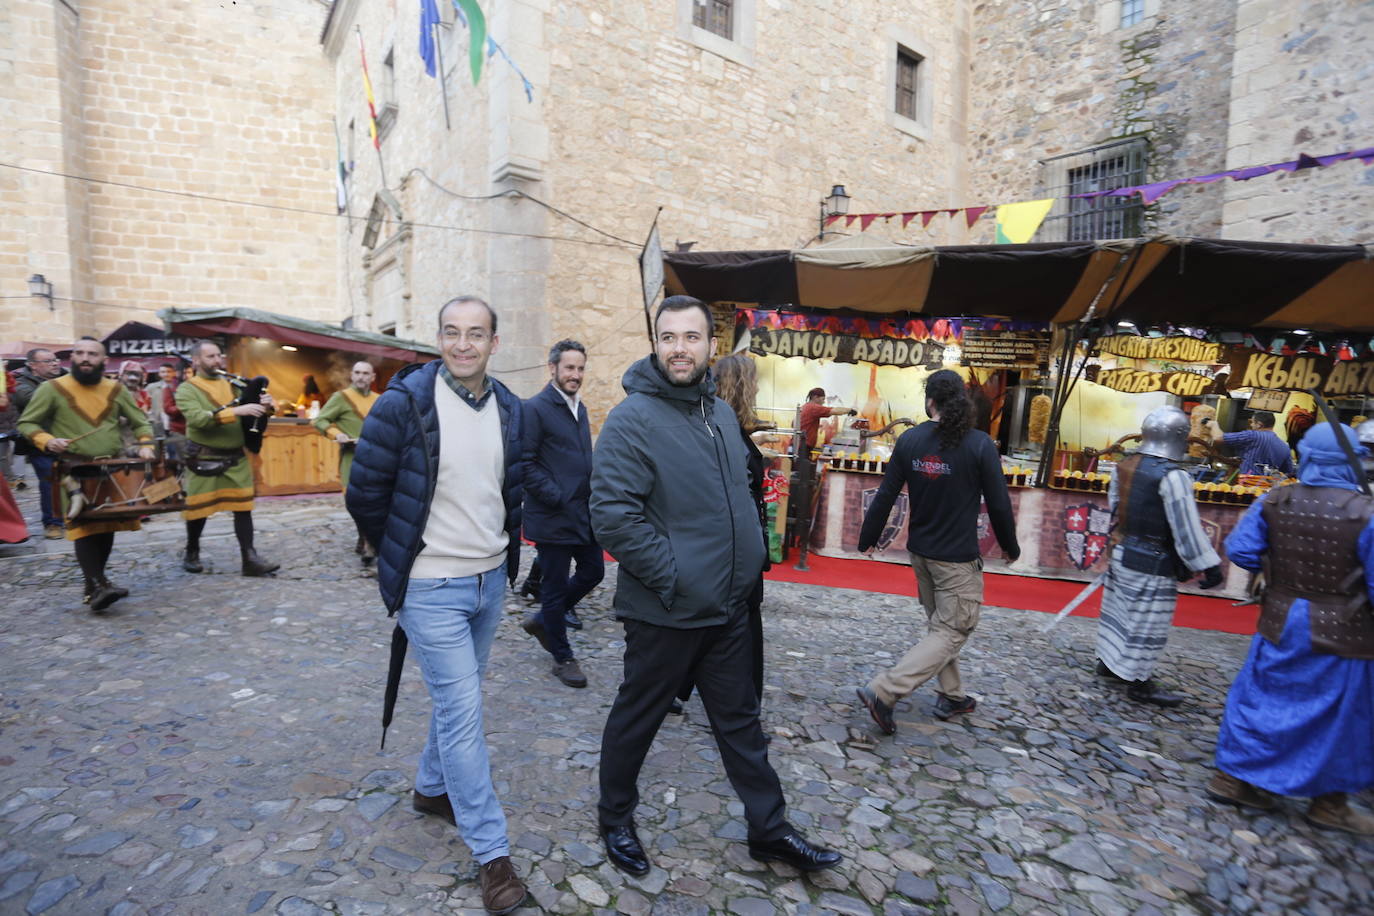
[{"label": "person in silver helmet and striped robe holding a sword", "polygon": [[1140,448],[1117,463],[1107,490],[1116,519],[1098,619],[1098,674],[1125,683],[1138,703],[1179,706],[1151,674],[1179,599],[1178,582],[1202,573],[1201,588],[1221,582],[1221,558],[1202,530],[1187,453],[1189,417],[1161,407],[1140,426]]}]

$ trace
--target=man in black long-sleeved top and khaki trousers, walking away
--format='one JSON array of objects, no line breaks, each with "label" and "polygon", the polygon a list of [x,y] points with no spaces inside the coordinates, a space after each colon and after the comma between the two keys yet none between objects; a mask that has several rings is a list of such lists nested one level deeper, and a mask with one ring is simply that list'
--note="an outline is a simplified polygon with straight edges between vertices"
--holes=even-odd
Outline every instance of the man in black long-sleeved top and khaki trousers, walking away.
[{"label": "man in black long-sleeved top and khaki trousers, walking away", "polygon": [[977,706],[963,692],[959,650],[978,625],[982,610],[981,503],[988,504],[988,520],[1007,560],[1021,556],[998,446],[987,433],[970,428],[973,404],[958,372],[940,369],[926,379],[926,415],[930,422],[897,439],[882,486],[859,531],[859,549],[871,549],[888,523],[893,501],[907,488],[911,499],[907,549],[930,625],[925,639],[900,662],[859,688],[859,699],[885,735],[897,731],[893,705],[932,677],[940,681],[937,717],[971,713]]}]

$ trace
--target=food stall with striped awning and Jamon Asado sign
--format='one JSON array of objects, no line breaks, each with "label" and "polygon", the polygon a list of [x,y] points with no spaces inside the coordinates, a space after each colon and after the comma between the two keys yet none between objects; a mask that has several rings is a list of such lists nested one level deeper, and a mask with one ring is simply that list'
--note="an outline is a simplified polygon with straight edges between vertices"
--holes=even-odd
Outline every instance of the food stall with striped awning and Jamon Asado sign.
[{"label": "food stall with striped awning and Jamon Asado sign", "polygon": [[[1340,396],[1351,417],[1374,407],[1374,261],[1360,246],[1160,238],[919,249],[860,236],[798,251],[672,253],[665,283],[735,312],[739,349],[760,360],[761,415],[794,426],[787,412],[819,385],[867,422],[855,430],[835,417],[838,446],[819,456],[808,547],[829,556],[859,556],[883,448],[901,427],[864,433],[922,422],[933,368],[970,380],[978,424],[1003,453],[1022,556],[1002,560],[984,516],[989,567],[1066,580],[1106,564],[1106,482],[1120,456],[1110,446],[1150,409],[1206,407],[1234,430],[1256,396],[1252,409],[1279,404],[1283,419],[1308,411],[1311,385]],[[846,331],[864,341],[852,365],[838,358],[842,341],[824,339]],[[889,342],[875,352],[875,338],[890,338],[892,358],[905,342],[915,363],[883,365]],[[1224,455],[1197,446],[1198,511],[1220,547],[1272,481],[1241,481]],[[907,512],[903,494],[877,559],[907,562]],[[1226,574],[1219,592],[1242,596],[1249,575]]]}]

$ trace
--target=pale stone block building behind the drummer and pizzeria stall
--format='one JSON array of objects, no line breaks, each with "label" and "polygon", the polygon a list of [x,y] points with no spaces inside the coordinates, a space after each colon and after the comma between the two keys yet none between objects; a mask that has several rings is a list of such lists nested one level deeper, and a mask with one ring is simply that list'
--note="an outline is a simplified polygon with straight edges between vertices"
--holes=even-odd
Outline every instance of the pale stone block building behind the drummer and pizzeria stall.
[{"label": "pale stone block building behind the drummer and pizzeria stall", "polygon": [[[0,299],[0,339],[103,335],[172,305],[345,317],[324,12],[0,3],[0,161],[21,166],[0,168],[0,295],[21,297]],[[23,298],[34,273],[51,308]]]}]

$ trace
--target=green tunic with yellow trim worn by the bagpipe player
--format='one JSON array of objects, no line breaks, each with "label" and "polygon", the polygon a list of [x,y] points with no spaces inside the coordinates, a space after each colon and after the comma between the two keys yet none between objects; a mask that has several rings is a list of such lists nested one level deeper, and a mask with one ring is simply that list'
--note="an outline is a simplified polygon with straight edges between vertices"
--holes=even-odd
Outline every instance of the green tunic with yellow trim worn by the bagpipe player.
[{"label": "green tunic with yellow trim worn by the bagpipe player", "polygon": [[[185,472],[185,520],[216,512],[253,511],[253,464],[243,452],[243,424],[228,407],[235,391],[223,376],[195,375],[176,390],[176,407],[185,417],[185,435],[192,442],[220,452],[238,452],[239,461],[224,474],[207,477]],[[265,420],[264,420],[265,422]]]}]

